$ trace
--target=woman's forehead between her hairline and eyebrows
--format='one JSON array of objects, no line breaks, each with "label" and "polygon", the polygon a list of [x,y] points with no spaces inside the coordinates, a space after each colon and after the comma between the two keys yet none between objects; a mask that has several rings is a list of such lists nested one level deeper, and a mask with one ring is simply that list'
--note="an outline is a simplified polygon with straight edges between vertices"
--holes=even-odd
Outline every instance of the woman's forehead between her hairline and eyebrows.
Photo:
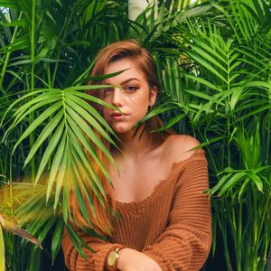
[{"label": "woman's forehead between her hairline and eyebrows", "polygon": [[129,58],[121,59],[119,61],[113,61],[109,63],[104,70],[105,74],[114,73],[120,70],[125,70],[122,73],[112,78],[106,79],[105,83],[117,84],[129,78],[136,78],[139,80],[145,80],[145,74],[139,70],[135,61]]}]

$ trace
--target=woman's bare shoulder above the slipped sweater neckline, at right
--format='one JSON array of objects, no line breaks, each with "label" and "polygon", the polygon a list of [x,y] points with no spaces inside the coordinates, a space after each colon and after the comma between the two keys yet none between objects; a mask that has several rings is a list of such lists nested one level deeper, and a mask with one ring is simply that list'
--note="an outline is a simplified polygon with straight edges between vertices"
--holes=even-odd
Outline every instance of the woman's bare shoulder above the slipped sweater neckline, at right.
[{"label": "woman's bare shoulder above the slipped sweater neckline, at right", "polygon": [[191,135],[170,135],[166,154],[172,162],[179,162],[201,150],[201,148],[194,150],[198,145],[200,145],[200,142]]}]

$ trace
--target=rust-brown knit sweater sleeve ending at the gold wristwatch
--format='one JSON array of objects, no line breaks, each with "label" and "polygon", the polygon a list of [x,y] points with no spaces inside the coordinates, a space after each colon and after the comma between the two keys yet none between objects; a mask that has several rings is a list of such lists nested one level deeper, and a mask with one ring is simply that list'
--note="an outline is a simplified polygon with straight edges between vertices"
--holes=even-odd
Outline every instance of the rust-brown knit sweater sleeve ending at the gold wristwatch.
[{"label": "rust-brown knit sweater sleeve ending at the gold wristwatch", "polygon": [[85,248],[84,253],[87,257],[85,260],[80,257],[79,252],[74,248],[67,231],[64,233],[62,240],[62,250],[65,257],[65,264],[70,271],[104,271],[107,270],[107,254],[114,248],[123,248],[120,244],[107,243],[106,241],[89,236],[88,233],[79,231],[79,236],[94,249],[92,252]]}]

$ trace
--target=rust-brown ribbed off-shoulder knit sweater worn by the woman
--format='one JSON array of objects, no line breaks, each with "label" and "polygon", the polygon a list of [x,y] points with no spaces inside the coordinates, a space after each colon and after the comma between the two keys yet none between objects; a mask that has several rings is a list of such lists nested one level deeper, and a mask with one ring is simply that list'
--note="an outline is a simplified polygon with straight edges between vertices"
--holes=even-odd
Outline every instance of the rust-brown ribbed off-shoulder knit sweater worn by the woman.
[{"label": "rust-brown ribbed off-shoulder knit sweater worn by the woman", "polygon": [[[151,174],[151,171],[150,171]],[[200,270],[211,244],[208,166],[203,150],[174,163],[166,179],[143,201],[117,201],[121,219],[115,218],[115,233],[109,241],[79,235],[96,253],[85,249],[79,256],[69,236],[62,249],[70,271],[107,270],[106,259],[114,248],[134,248],[152,257],[162,270]]]}]

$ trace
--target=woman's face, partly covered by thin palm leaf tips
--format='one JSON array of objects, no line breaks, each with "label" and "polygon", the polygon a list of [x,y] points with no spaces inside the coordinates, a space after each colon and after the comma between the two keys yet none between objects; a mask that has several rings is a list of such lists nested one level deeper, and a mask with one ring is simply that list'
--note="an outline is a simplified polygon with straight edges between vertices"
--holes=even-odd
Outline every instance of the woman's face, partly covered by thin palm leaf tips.
[{"label": "woman's face, partly covered by thin palm leaf tips", "polygon": [[120,111],[105,107],[105,117],[115,133],[130,132],[135,124],[145,117],[148,107],[153,106],[157,89],[150,88],[143,72],[138,70],[135,62],[129,58],[114,61],[105,69],[105,74],[125,70],[119,75],[105,80],[105,84],[117,85],[105,89],[107,103]]}]

